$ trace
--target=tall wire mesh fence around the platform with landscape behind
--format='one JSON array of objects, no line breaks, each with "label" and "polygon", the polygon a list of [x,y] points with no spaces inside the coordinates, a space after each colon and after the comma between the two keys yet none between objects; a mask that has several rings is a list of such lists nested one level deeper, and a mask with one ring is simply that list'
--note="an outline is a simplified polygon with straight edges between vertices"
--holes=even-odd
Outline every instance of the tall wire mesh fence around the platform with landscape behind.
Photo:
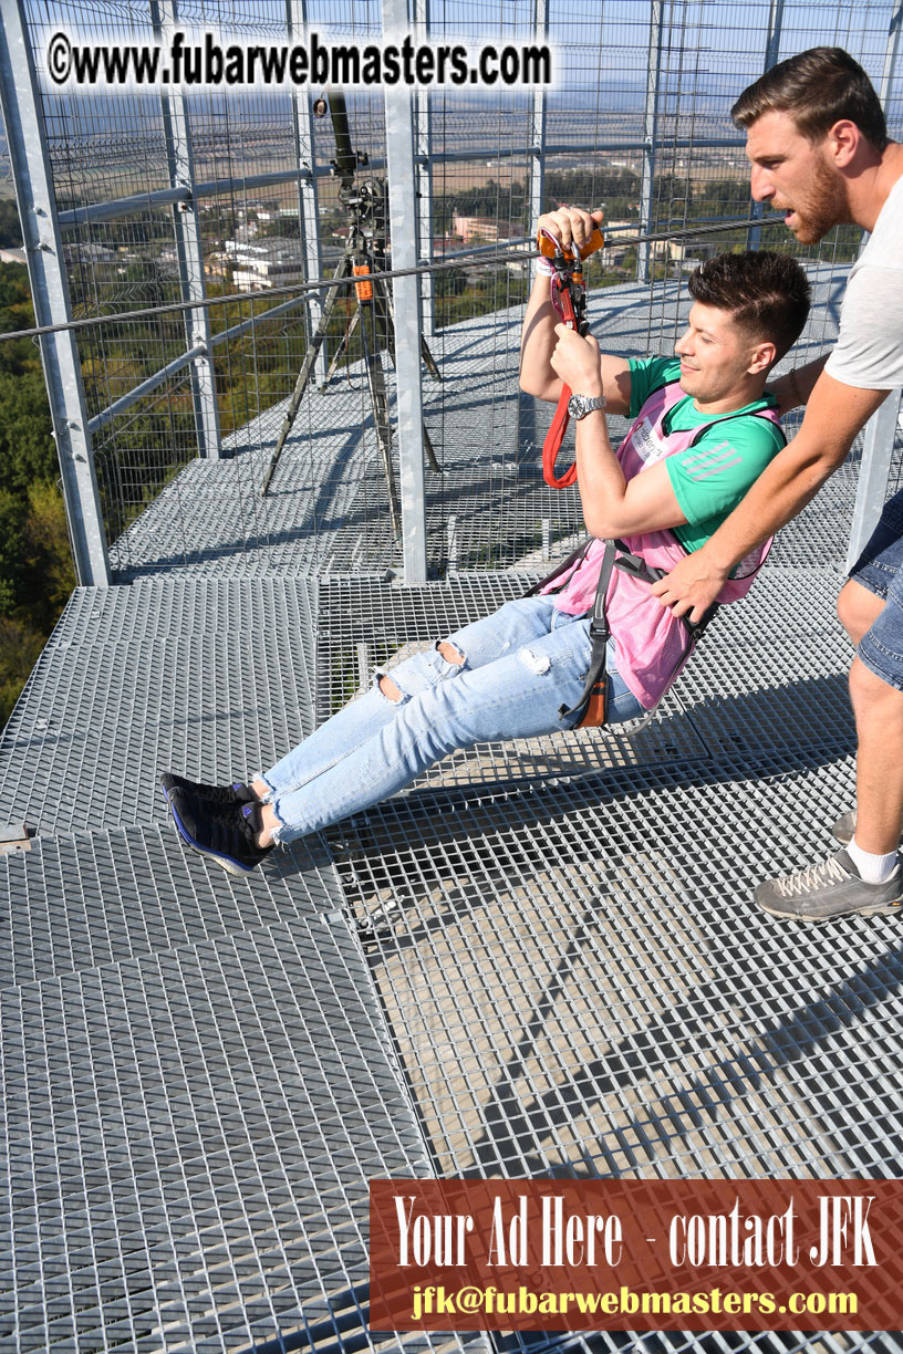
[{"label": "tall wire mesh fence around the platform with landscape behind", "polygon": [[[309,30],[345,41],[349,50],[382,37],[376,3],[311,0],[290,12],[292,23],[306,22]],[[171,19],[236,41],[278,42],[288,32],[287,15],[275,0],[238,7],[199,0],[181,5]],[[138,3],[100,11],[69,4],[53,18],[32,7],[28,16],[39,70],[57,22],[107,41],[153,37],[150,12]],[[420,191],[426,194],[422,215],[429,227],[421,230],[421,252],[443,264],[460,255],[460,265],[440,268],[429,286],[435,313],[428,315],[428,341],[443,378],[425,378],[425,427],[440,467],[426,475],[433,570],[460,567],[467,519],[482,513],[497,523],[498,498],[523,497],[536,470],[536,432],[546,414],[519,397],[514,357],[529,276],[525,261],[510,257],[510,245],[529,234],[536,206],[578,202],[604,209],[608,246],[589,265],[590,284],[604,288],[598,305],[602,313],[616,309],[616,295],[608,298],[607,290],[617,291],[639,275],[627,349],[669,351],[684,320],[686,272],[712,249],[753,238],[741,226],[708,240],[685,234],[689,227],[730,225],[749,213],[743,138],[730,123],[734,97],[778,57],[814,41],[835,41],[864,62],[881,88],[894,131],[900,77],[885,62],[891,16],[889,0],[858,5],[854,15],[849,7],[829,8],[824,23],[814,23],[808,5],[772,7],[765,0],[754,5],[726,0],[607,4],[592,14],[571,0],[554,0],[537,31],[531,0],[431,5],[428,31],[435,41],[494,41],[498,46],[547,37],[558,60],[556,83],[542,96],[497,84],[466,92],[425,91],[418,102],[417,137],[425,148]],[[305,89],[302,97],[313,92]],[[168,363],[184,362],[191,334],[180,214],[187,207],[198,221],[198,286],[211,302],[207,357],[190,362],[118,417],[104,416],[95,429],[114,569],[131,577],[149,567],[171,567],[168,561],[198,563],[191,517],[172,519],[173,539],[157,559],[145,540],[153,520],[141,519],[173,477],[183,481],[187,497],[194,492],[194,467],[187,481],[181,467],[208,441],[199,424],[198,364],[204,362],[213,364],[223,451],[245,462],[233,478],[223,477],[219,494],[233,567],[244,556],[253,571],[265,567],[267,556],[276,569],[348,567],[351,536],[338,552],[330,539],[321,542],[321,533],[329,538],[333,527],[322,502],[337,500],[341,510],[345,493],[338,483],[347,483],[348,475],[361,485],[355,496],[355,528],[368,543],[371,566],[397,567],[390,498],[398,466],[383,463],[361,364],[367,325],[355,325],[356,307],[347,288],[337,298],[326,349],[332,353],[347,340],[343,362],[348,366],[333,374],[332,394],[322,399],[315,395],[320,374],[311,382],[295,416],[286,467],[273,485],[279,506],[253,502],[311,340],[313,311],[298,288],[307,229],[301,217],[301,169],[317,184],[318,245],[326,275],[348,244],[355,209],[340,179],[324,173],[337,153],[333,118],[310,123],[305,168],[291,91],[226,95],[213,87],[190,87],[179,104],[176,131],[175,106],[167,99],[172,104],[176,95],[167,95],[161,104],[158,95],[125,89],[81,97],[50,88],[42,93],[53,206],[62,213],[73,310],[79,318],[103,318],[80,332],[88,417],[115,406]],[[378,92],[348,91],[348,135],[360,161],[352,196],[361,187],[368,191],[367,184],[382,191],[383,122]],[[179,164],[176,176],[173,162]],[[183,181],[185,175],[190,183]],[[384,223],[379,229],[384,234]],[[631,244],[638,229],[666,238]],[[818,271],[823,294],[810,333],[815,343],[830,341],[837,318],[831,295],[842,288],[846,265],[860,246],[858,230],[839,227],[808,249],[797,246],[783,226],[764,225],[754,234],[761,244],[800,253]],[[386,261],[391,263],[391,253]],[[280,290],[286,287],[287,294]],[[217,297],[225,295],[248,299],[217,305]],[[265,318],[286,295],[288,310]],[[135,310],[138,318],[125,318]],[[615,347],[623,336],[602,328],[600,338],[604,347]],[[374,330],[367,341],[383,352],[391,394],[386,336]],[[466,355],[472,359],[470,367]],[[322,440],[326,433],[337,439],[332,450]],[[481,455],[468,455],[477,447]],[[533,538],[548,536],[550,516],[555,513],[540,512]],[[130,531],[135,519],[137,531]],[[282,546],[292,533],[306,544],[286,556]],[[535,540],[505,520],[490,540],[467,550],[468,567],[509,565],[531,548]],[[360,563],[353,562],[355,567]]]}]

